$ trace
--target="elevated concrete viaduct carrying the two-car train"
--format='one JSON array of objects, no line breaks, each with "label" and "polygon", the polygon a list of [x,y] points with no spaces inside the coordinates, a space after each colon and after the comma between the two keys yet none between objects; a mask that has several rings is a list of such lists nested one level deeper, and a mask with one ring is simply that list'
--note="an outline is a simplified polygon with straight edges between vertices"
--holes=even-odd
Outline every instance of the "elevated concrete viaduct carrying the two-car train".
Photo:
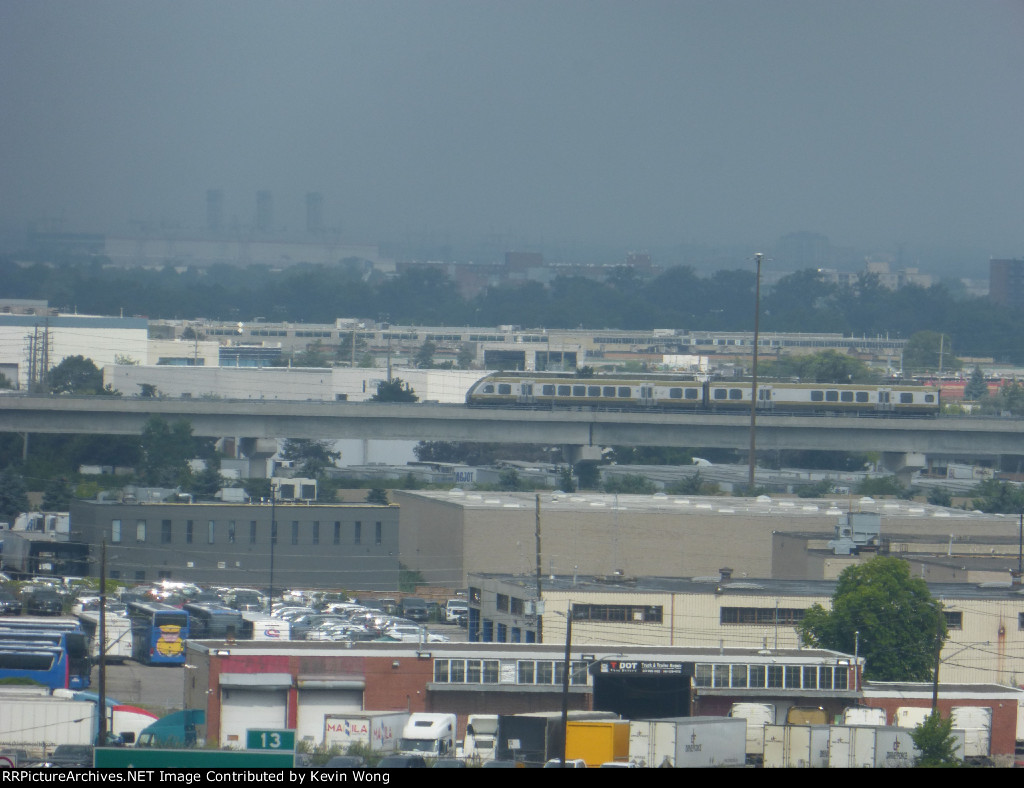
[{"label": "elevated concrete viaduct carrying the two-car train", "polygon": [[[154,415],[199,436],[540,443],[594,458],[602,446],[750,448],[750,414],[469,408],[435,403],[0,396],[0,432],[139,434]],[[1024,420],[762,415],[757,449],[881,452],[892,470],[926,457],[1024,455]]]}]

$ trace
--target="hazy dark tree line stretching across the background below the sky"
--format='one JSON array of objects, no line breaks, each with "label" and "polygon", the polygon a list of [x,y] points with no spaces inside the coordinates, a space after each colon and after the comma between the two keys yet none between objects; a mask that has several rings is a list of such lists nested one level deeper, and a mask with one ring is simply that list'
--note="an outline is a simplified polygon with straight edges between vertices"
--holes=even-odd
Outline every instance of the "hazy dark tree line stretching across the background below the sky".
[{"label": "hazy dark tree line stretching across the background below the sky", "polygon": [[[333,322],[339,316],[376,317],[411,325],[517,324],[549,329],[752,331],[755,273],[719,270],[700,276],[680,265],[644,278],[626,266],[603,281],[557,276],[550,284],[520,281],[465,298],[438,267],[407,268],[395,277],[366,279],[352,261],[284,270],[214,265],[178,270],[105,267],[103,259],[61,264],[0,258],[0,281],[10,298],[42,299],[91,314],[141,314],[161,319]],[[890,335],[931,332],[935,355],[992,356],[1024,362],[1024,316],[968,296],[956,281],[932,288],[883,287],[874,274],[852,284],[822,281],[798,271],[762,287],[765,332]],[[939,350],[941,345],[942,350]],[[949,367],[947,367],[949,368]]]}]

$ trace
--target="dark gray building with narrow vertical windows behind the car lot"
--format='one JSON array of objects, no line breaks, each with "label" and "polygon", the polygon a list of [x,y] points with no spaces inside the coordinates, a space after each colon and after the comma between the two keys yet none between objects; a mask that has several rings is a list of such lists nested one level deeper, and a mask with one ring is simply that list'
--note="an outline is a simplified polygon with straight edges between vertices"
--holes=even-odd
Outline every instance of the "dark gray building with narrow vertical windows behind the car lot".
[{"label": "dark gray building with narrow vertical windows behind the car lot", "polygon": [[[271,519],[276,538],[271,540]],[[398,587],[398,508],[372,504],[164,504],[74,500],[73,541],[99,574],[257,588]],[[272,574],[272,577],[271,577]]]}]

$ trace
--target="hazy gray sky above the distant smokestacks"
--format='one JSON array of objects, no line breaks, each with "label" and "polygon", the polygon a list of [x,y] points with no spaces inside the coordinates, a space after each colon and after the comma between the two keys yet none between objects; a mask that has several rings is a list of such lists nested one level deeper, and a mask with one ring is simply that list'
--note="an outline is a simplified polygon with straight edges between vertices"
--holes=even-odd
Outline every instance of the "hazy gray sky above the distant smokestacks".
[{"label": "hazy gray sky above the distant smokestacks", "polygon": [[1020,0],[0,0],[0,224],[1024,255]]}]

